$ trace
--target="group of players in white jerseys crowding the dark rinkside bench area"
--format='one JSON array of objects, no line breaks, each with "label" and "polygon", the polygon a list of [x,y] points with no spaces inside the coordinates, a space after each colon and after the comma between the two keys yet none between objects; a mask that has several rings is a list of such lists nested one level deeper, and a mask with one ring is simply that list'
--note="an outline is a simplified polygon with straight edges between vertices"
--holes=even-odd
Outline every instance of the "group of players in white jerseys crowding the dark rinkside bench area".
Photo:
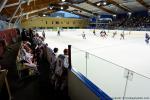
[{"label": "group of players in white jerseys crowding the dark rinkside bench area", "polygon": [[31,29],[23,29],[21,36],[23,42],[18,54],[20,62],[39,75],[41,89],[52,86],[56,91],[66,91],[68,49],[64,49],[64,54],[58,54],[58,48],[48,47],[44,42],[46,37],[39,36]]}]

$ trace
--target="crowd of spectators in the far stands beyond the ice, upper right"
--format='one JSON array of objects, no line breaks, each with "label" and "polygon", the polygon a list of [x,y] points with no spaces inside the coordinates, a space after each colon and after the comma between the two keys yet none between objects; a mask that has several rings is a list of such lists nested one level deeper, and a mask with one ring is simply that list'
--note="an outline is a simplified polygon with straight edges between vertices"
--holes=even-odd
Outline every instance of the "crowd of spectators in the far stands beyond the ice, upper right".
[{"label": "crowd of spectators in the far stands beyond the ice, upper right", "polygon": [[110,23],[100,24],[99,28],[143,30],[150,28],[150,16],[132,15],[116,18]]}]

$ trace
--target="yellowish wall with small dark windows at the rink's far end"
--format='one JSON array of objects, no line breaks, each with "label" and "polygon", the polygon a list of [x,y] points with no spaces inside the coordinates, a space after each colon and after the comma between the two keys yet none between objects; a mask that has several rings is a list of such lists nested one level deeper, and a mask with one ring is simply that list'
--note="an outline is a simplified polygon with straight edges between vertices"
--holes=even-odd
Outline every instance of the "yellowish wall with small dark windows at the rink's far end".
[{"label": "yellowish wall with small dark windows at the rink's far end", "polygon": [[37,17],[22,21],[24,28],[86,28],[88,21],[76,18]]}]

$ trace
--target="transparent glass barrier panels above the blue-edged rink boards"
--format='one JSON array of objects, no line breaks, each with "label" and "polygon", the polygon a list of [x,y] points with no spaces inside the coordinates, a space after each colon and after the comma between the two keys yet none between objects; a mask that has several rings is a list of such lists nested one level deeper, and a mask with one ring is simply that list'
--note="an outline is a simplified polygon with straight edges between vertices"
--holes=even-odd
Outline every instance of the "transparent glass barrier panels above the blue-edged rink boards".
[{"label": "transparent glass barrier panels above the blue-edged rink boards", "polygon": [[150,78],[72,47],[72,66],[114,100],[150,100]]}]

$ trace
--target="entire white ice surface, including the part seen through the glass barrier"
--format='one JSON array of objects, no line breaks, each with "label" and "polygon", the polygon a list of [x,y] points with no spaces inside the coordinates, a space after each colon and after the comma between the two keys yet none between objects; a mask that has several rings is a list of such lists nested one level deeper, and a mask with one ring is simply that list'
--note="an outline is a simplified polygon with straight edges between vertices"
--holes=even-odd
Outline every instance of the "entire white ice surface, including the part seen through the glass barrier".
[{"label": "entire white ice surface, including the part seen through the glass barrier", "polygon": [[[42,31],[43,30],[39,30],[38,33],[41,34]],[[145,91],[148,89],[147,86],[150,84],[150,80],[143,78],[143,76],[150,77],[150,44],[145,43],[146,32],[124,31],[125,39],[120,40],[120,33],[123,31],[106,30],[108,34],[107,38],[100,37],[100,31],[101,30],[96,30],[95,36],[93,30],[88,29],[62,30],[60,36],[57,36],[57,31],[45,30],[45,42],[48,43],[48,46],[52,49],[58,47],[59,53],[62,53],[63,49],[67,48],[67,45],[72,45],[72,56],[76,56],[76,59],[72,59],[76,60],[72,61],[76,63],[73,64],[73,67],[87,76],[101,89],[105,90],[110,96],[122,97],[124,95],[126,84],[126,79],[124,78],[126,71],[124,69],[127,68],[136,72],[136,74],[132,77],[134,79],[132,84],[128,84],[126,96],[150,97],[150,89]],[[115,31],[117,31],[117,35],[115,38],[112,38],[113,32]],[[86,34],[86,39],[82,38],[83,32]],[[78,53],[78,50],[80,53]],[[88,68],[85,68],[85,64],[87,64],[85,52],[90,53]],[[107,65],[110,67],[107,68]],[[141,81],[144,83],[134,85]],[[142,88],[140,88],[141,86]],[[116,89],[114,92],[112,89],[116,87],[119,89]],[[143,90],[142,92],[145,93],[141,94],[141,92],[137,92],[136,94],[132,94],[134,91],[137,91],[135,89],[139,91]]]}]

